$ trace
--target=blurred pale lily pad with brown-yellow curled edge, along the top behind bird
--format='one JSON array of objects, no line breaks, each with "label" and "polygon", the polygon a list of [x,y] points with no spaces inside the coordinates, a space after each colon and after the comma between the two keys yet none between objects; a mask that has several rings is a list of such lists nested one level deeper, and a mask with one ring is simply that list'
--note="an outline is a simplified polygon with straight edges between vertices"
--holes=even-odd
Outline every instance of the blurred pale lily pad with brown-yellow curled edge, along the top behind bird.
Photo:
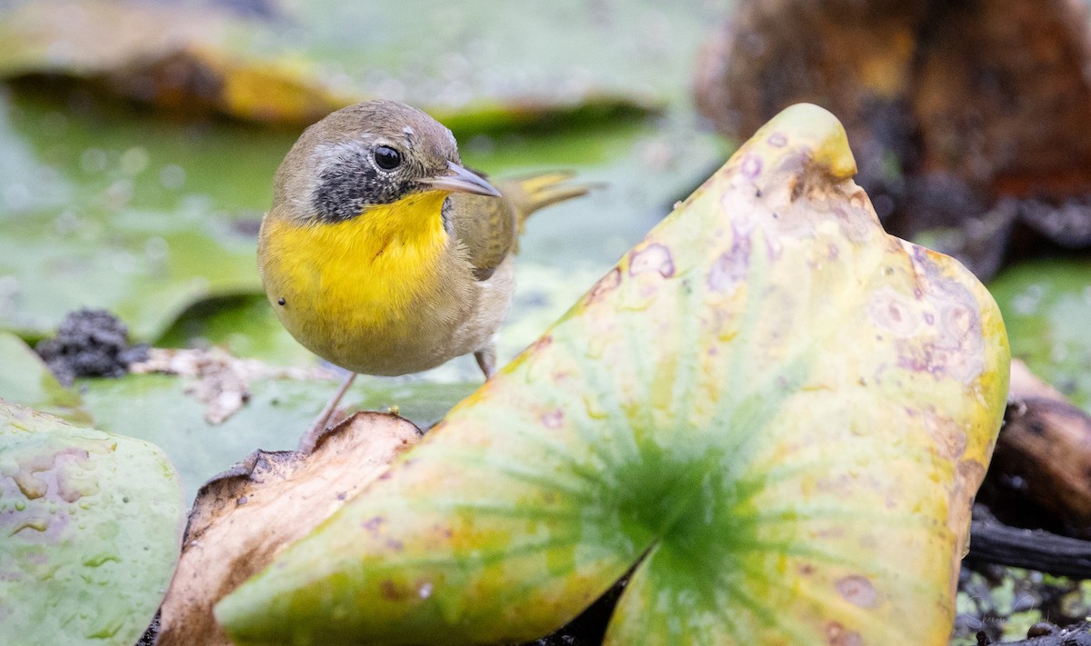
[{"label": "blurred pale lily pad with brown-yellow curled edge, along the top behind bird", "polygon": [[324,0],[245,19],[231,4],[15,2],[0,11],[0,77],[50,74],[172,110],[293,125],[375,97],[476,132],[601,123],[680,98],[679,74],[720,17],[697,0],[673,11],[650,0]]}]

